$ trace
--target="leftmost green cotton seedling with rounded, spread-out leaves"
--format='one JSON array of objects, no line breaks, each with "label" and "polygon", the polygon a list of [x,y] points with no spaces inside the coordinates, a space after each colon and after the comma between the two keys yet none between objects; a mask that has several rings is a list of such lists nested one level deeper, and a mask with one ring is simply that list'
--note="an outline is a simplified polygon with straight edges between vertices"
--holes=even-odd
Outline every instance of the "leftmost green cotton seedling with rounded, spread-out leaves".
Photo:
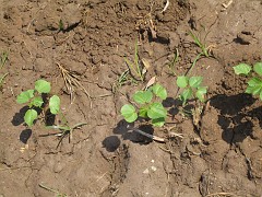
[{"label": "leftmost green cotton seedling with rounded, spread-out leaves", "polygon": [[[34,90],[26,90],[17,95],[16,102],[19,104],[27,103],[28,109],[24,115],[24,121],[31,127],[34,124],[34,120],[37,118],[37,108],[43,109],[44,99],[43,94],[48,94],[51,91],[51,85],[45,80],[37,80],[35,82]],[[49,99],[49,108],[51,114],[56,115],[60,111],[60,99],[57,95],[52,95]]]}]

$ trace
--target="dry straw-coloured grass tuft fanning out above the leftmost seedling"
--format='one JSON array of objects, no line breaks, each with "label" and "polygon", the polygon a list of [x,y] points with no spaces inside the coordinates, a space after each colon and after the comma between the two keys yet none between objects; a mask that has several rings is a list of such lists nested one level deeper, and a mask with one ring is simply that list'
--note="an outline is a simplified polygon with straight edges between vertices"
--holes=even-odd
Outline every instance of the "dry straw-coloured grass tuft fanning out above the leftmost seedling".
[{"label": "dry straw-coloured grass tuft fanning out above the leftmost seedling", "polygon": [[82,91],[84,91],[84,93],[87,95],[87,97],[90,100],[91,107],[92,107],[92,100],[91,100],[92,97],[91,97],[90,93],[86,91],[86,89],[80,82],[80,77],[73,72],[68,71],[60,63],[57,62],[57,65],[58,65],[58,68],[61,70],[66,88],[68,89],[68,91],[70,93],[71,103],[73,103],[73,93],[75,92],[74,91],[74,86],[75,86],[75,88],[80,88]]}]

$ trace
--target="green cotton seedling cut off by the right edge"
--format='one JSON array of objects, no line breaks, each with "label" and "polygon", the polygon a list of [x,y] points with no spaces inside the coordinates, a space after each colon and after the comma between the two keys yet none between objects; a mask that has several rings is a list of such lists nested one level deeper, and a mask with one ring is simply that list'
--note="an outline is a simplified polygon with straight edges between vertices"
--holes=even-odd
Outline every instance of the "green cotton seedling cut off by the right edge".
[{"label": "green cotton seedling cut off by the right edge", "polygon": [[259,95],[260,100],[262,100],[262,62],[257,62],[253,67],[247,63],[240,63],[233,68],[238,76],[243,74],[249,77],[252,74],[252,78],[248,81],[246,93]]}]

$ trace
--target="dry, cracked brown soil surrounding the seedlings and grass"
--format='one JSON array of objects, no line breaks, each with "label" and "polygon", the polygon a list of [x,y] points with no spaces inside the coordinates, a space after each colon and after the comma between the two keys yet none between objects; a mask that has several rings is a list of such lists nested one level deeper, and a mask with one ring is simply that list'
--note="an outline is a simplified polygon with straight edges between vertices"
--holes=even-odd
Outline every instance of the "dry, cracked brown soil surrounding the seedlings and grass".
[{"label": "dry, cracked brown soil surrounding the seedlings and grass", "polygon": [[[230,1],[229,1],[230,2]],[[0,53],[9,59],[0,92],[0,196],[261,196],[261,101],[243,94],[246,79],[233,66],[262,59],[262,2],[170,0],[0,0]],[[62,22],[62,25],[59,21]],[[176,113],[176,77],[168,62],[180,54],[179,74],[200,53],[189,31],[205,37],[213,54],[191,74],[204,77],[209,102],[196,124]],[[118,86],[139,40],[140,59],[150,60],[145,83]],[[58,63],[76,73],[90,93],[75,88],[71,104]],[[157,76],[168,91],[174,118],[158,143],[129,131],[119,113],[133,92]],[[23,124],[17,94],[44,78],[62,101],[72,125],[87,125],[61,141],[40,116]],[[195,120],[195,119],[194,119]],[[171,129],[172,128],[172,129]],[[40,186],[41,185],[41,186]]]}]

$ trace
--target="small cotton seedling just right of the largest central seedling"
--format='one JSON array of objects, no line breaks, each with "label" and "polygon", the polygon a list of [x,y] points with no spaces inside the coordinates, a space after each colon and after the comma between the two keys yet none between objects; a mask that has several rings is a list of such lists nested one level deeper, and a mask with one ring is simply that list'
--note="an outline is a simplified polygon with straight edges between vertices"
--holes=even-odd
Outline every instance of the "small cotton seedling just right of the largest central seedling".
[{"label": "small cotton seedling just right of the largest central seedling", "polygon": [[177,78],[177,85],[180,89],[183,89],[183,92],[180,94],[180,99],[183,102],[183,105],[190,99],[196,99],[200,102],[205,101],[205,94],[207,92],[206,86],[201,86],[203,81],[203,77],[187,77],[187,76],[179,76]]}]

